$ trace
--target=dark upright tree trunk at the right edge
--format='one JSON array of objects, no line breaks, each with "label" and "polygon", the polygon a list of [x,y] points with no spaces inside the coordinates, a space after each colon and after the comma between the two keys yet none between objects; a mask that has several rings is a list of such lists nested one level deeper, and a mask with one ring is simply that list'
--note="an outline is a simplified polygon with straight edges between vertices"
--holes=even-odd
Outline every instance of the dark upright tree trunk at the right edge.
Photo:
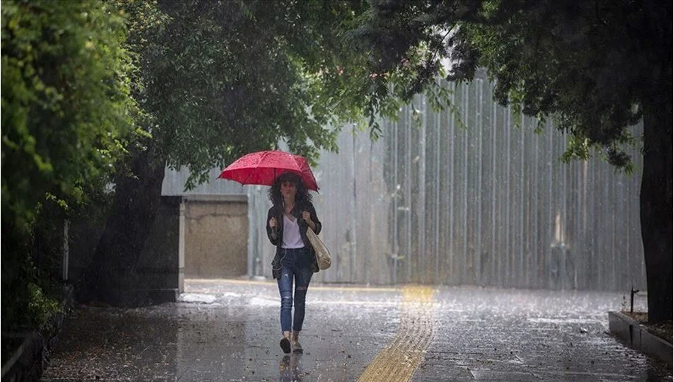
[{"label": "dark upright tree trunk at the right edge", "polygon": [[672,319],[672,103],[644,115],[641,240],[644,243],[649,322]]}]

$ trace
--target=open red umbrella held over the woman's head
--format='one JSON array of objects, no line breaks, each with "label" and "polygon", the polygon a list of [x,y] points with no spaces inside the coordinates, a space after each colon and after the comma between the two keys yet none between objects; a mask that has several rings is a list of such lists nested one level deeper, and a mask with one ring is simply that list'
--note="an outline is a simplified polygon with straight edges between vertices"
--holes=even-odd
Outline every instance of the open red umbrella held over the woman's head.
[{"label": "open red umbrella held over the woman's head", "polygon": [[241,156],[222,170],[218,178],[236,180],[242,185],[273,185],[282,173],[296,173],[309,190],[319,190],[306,158],[278,150]]}]

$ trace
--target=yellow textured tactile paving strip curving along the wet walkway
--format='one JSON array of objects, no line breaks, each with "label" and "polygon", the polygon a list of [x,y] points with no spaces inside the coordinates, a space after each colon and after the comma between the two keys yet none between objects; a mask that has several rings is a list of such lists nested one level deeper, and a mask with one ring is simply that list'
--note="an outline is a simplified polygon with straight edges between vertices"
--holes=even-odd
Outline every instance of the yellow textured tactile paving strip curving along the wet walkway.
[{"label": "yellow textured tactile paving strip curving along the wet walkway", "polygon": [[433,340],[433,288],[402,289],[400,327],[382,349],[359,382],[411,381],[423,361],[423,352]]}]

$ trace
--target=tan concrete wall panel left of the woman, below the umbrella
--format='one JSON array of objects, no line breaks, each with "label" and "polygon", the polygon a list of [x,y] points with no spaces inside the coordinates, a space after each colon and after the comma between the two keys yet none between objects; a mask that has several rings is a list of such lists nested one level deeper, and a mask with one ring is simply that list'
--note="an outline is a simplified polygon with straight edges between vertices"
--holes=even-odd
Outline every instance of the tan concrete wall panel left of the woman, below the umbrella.
[{"label": "tan concrete wall panel left of the woman, below the umbrella", "polygon": [[248,272],[246,195],[185,195],[185,277],[239,277]]}]

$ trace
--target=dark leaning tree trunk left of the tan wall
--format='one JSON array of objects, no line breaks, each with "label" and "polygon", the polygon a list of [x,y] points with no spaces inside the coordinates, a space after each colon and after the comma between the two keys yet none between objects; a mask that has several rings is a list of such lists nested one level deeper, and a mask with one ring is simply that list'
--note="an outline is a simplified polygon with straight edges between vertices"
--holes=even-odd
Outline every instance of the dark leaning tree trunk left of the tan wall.
[{"label": "dark leaning tree trunk left of the tan wall", "polygon": [[138,284],[136,272],[161,203],[165,161],[151,146],[135,153],[131,175],[120,173],[115,200],[86,276],[84,299],[125,304],[125,291]]}]

